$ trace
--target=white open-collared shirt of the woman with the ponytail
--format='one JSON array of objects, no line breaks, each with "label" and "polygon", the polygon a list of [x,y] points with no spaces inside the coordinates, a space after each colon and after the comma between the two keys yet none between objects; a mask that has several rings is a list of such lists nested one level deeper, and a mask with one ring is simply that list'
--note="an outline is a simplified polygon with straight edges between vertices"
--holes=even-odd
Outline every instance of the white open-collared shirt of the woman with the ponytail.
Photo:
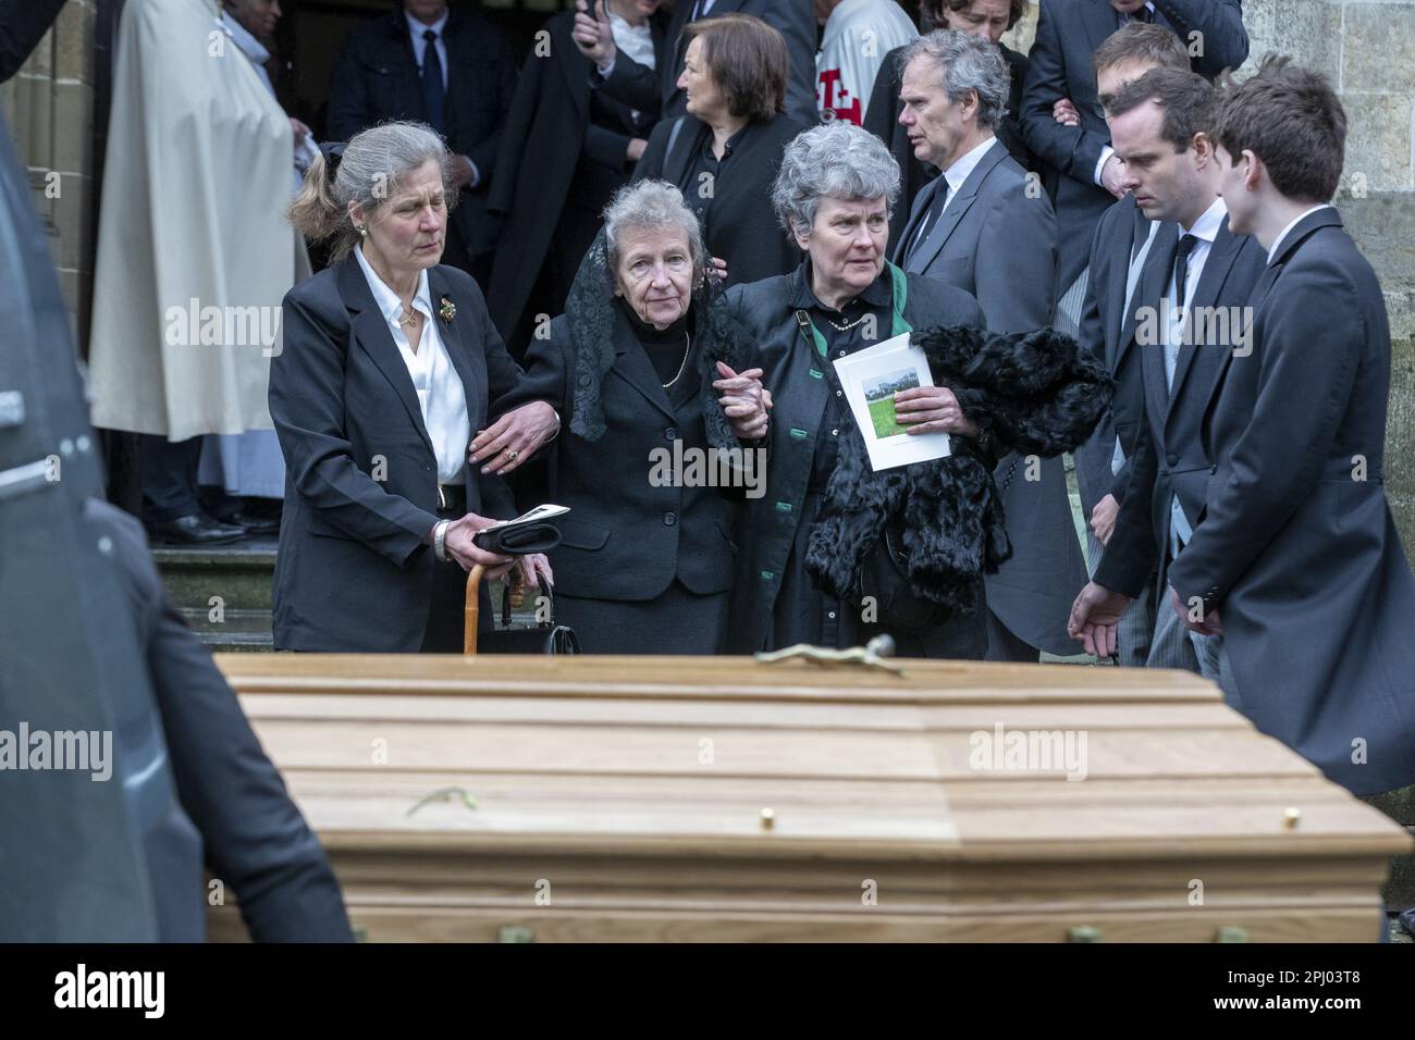
[{"label": "white open-collared shirt of the woman with the ponytail", "polygon": [[403,314],[403,301],[364,259],[362,246],[358,246],[354,255],[374,293],[374,301],[378,303],[393,334],[393,342],[398,344],[398,352],[408,366],[413,389],[417,391],[417,408],[423,413],[423,426],[427,427],[433,454],[437,457],[437,483],[456,484],[461,480],[461,467],[467,464],[471,420],[467,417],[467,392],[461,385],[461,376],[457,375],[447,344],[437,330],[439,318],[433,311],[432,293],[427,289],[427,272],[417,276],[417,293],[413,296],[413,308],[423,316],[423,338],[415,352],[408,341],[408,333],[398,324],[398,318]]}]

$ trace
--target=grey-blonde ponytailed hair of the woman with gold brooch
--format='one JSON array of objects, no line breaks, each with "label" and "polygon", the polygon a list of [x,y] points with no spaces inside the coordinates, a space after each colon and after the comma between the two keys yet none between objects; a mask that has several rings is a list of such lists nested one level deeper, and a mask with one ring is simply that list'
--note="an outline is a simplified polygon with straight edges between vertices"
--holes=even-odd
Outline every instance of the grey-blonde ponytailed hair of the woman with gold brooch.
[{"label": "grey-blonde ponytailed hair of the woman with gold brooch", "polygon": [[382,123],[354,134],[331,178],[321,154],[304,175],[304,185],[290,204],[290,221],[307,239],[333,243],[331,260],[341,260],[358,245],[350,202],[372,214],[398,194],[399,183],[427,161],[441,170],[447,208],[457,202],[451,187],[451,153],[437,132],[424,123]]}]

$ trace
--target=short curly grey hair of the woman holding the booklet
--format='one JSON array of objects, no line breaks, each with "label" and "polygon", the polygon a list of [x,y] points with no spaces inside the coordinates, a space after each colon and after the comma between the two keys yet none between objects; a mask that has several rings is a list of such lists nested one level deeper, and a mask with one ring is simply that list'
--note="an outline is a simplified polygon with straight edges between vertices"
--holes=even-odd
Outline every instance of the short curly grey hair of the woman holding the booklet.
[{"label": "short curly grey hair of the woman holding the booklet", "polygon": [[893,212],[899,197],[899,163],[879,137],[853,123],[835,120],[812,126],[787,144],[771,185],[771,205],[788,235],[811,229],[822,195],[883,198]]}]

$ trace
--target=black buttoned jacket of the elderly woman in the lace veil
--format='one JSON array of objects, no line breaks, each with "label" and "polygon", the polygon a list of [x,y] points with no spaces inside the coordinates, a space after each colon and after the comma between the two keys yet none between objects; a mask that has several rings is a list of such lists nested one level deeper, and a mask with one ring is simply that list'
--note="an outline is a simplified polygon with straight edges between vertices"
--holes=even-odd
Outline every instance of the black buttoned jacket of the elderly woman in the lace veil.
[{"label": "black buttoned jacket of the elderly woman in the lace veil", "polygon": [[[586,440],[569,422],[549,450],[549,498],[572,512],[556,521],[555,587],[597,600],[652,600],[676,577],[699,594],[732,587],[736,505],[715,487],[654,487],[651,453],[706,449],[703,395],[664,389],[628,318],[613,307],[614,364],[600,388],[604,436]],[[569,320],[526,352],[528,400],[569,416],[576,368]],[[683,383],[692,386],[692,383]],[[689,456],[685,456],[685,458]],[[664,618],[672,625],[674,618]]]}]

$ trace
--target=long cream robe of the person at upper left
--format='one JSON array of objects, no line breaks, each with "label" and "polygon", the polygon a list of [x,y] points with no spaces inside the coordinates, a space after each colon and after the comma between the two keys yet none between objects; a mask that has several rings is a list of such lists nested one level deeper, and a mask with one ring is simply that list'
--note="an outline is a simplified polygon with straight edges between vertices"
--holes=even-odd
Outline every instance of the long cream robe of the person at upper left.
[{"label": "long cream robe of the person at upper left", "polygon": [[293,157],[290,122],[215,0],[127,0],[93,277],[95,426],[168,440],[272,427]]}]

